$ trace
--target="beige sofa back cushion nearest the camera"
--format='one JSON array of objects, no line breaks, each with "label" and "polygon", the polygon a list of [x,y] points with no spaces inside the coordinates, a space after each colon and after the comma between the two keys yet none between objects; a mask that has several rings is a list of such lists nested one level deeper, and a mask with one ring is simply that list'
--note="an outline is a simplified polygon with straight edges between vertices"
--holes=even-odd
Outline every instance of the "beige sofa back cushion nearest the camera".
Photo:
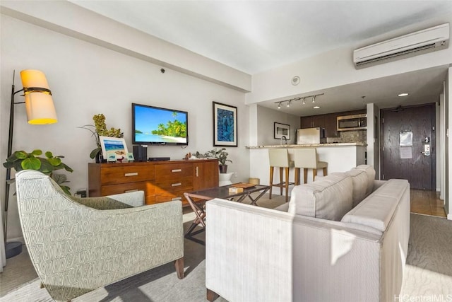
[{"label": "beige sofa back cushion nearest the camera", "polygon": [[352,178],[332,173],[292,190],[289,213],[340,221],[352,209]]}]

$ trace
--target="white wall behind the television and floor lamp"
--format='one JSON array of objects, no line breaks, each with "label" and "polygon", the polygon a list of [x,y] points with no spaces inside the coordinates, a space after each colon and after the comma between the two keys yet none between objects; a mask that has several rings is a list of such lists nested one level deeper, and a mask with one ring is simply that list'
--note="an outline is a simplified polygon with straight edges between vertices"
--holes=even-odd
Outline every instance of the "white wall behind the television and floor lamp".
[{"label": "white wall behind the television and floor lamp", "polygon": [[[238,148],[227,148],[237,172],[237,181],[249,178],[248,143],[249,110],[244,93],[182,74],[172,69],[160,72],[161,66],[136,57],[93,45],[37,25],[1,15],[1,156],[6,158],[9,100],[13,70],[16,90],[22,88],[18,72],[40,69],[47,76],[59,122],[32,126],[26,122],[25,106],[16,105],[13,150],[42,149],[64,155],[64,162],[74,169],[67,173],[72,192],[88,186],[89,153],[95,148],[90,132],[78,127],[92,124],[97,113],[106,116],[107,127],[121,128],[129,149],[131,144],[131,103],[189,112],[189,146],[186,149],[150,146],[148,156],[183,158],[188,152],[213,149],[212,102],[237,106]],[[16,95],[16,101],[23,97]],[[5,180],[1,173],[1,183]],[[14,190],[12,190],[14,192]],[[0,189],[4,209],[4,186]],[[15,197],[10,198],[8,238],[21,236]]]}]

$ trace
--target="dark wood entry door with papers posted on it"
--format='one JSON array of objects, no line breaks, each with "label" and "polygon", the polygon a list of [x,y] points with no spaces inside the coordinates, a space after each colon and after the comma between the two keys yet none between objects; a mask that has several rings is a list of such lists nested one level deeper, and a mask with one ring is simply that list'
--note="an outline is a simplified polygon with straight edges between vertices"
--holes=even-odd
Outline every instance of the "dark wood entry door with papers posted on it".
[{"label": "dark wood entry door with papers posted on it", "polygon": [[[412,189],[434,190],[434,103],[381,110],[381,117],[381,179],[402,178]],[[412,146],[400,146],[400,132],[412,132]]]}]

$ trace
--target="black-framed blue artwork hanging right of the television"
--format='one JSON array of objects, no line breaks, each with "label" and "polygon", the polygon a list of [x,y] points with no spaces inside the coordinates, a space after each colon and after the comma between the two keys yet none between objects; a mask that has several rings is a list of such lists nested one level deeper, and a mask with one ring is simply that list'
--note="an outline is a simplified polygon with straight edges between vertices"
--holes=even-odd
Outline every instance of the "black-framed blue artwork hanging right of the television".
[{"label": "black-framed blue artwork hanging right of the television", "polygon": [[237,107],[213,102],[213,146],[237,147]]}]

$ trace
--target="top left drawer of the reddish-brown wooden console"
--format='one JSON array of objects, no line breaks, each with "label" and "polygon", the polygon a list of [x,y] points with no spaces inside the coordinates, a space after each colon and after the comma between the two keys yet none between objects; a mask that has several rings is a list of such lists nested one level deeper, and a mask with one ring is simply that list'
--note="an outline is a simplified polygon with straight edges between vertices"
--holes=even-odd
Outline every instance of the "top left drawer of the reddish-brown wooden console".
[{"label": "top left drawer of the reddish-brown wooden console", "polygon": [[142,182],[154,179],[154,165],[124,165],[102,168],[101,185]]}]

